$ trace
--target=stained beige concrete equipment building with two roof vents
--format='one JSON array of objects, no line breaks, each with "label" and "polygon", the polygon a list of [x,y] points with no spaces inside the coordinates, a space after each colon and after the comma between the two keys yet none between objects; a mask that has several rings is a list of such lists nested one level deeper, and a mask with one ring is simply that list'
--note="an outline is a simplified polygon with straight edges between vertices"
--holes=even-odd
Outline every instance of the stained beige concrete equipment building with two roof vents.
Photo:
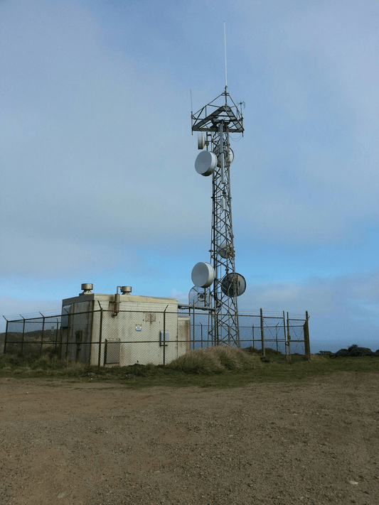
[{"label": "stained beige concrete equipment building with two roof vents", "polygon": [[[121,293],[118,293],[121,288]],[[168,364],[190,350],[190,317],[178,314],[176,298],[82,293],[62,300],[61,357],[100,366]]]}]

